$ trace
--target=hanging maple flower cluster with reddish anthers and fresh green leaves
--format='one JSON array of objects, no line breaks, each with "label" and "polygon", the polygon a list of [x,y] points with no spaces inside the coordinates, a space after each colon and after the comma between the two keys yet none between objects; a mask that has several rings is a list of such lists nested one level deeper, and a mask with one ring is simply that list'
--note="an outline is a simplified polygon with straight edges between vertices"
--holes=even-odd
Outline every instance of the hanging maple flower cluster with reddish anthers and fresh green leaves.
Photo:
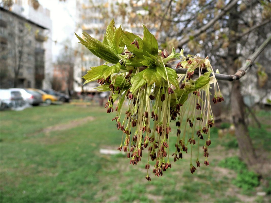
[{"label": "hanging maple flower cluster with reddish anthers and fresh green leaves", "polygon": [[[98,80],[101,85],[98,90],[110,92],[105,108],[107,113],[116,114],[112,121],[122,131],[118,150],[127,153],[130,164],[137,165],[143,150],[147,151],[147,180],[151,180],[150,160],[154,161],[154,176],[159,177],[172,167],[170,160],[182,159],[188,149],[190,171],[194,173],[200,166],[200,148],[204,164],[209,165],[210,128],[214,125],[211,101],[216,104],[224,99],[208,57],[184,56],[183,50],[175,53],[174,48],[171,54],[158,50],[157,40],[144,25],[143,28],[141,39],[121,27],[116,28],[112,20],[103,42],[86,33],[83,33],[85,40],[77,35],[93,54],[114,64],[92,67],[84,78],[86,83]],[[187,73],[176,74],[169,65],[173,60],[179,61],[176,68],[187,68]],[[212,100],[211,85],[215,91]],[[170,136],[172,122],[177,127],[175,139]],[[204,140],[202,147],[200,140]],[[171,142],[175,143],[173,158],[169,151]],[[192,162],[193,148],[197,148],[196,167]]]}]

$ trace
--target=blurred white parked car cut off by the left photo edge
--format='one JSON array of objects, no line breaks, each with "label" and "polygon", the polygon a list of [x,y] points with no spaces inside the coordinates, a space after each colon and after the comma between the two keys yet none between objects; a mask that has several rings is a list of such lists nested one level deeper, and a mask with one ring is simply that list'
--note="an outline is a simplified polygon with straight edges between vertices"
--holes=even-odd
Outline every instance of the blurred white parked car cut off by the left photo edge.
[{"label": "blurred white parked car cut off by the left photo edge", "polygon": [[20,91],[0,89],[0,109],[17,108],[24,106],[25,102]]}]

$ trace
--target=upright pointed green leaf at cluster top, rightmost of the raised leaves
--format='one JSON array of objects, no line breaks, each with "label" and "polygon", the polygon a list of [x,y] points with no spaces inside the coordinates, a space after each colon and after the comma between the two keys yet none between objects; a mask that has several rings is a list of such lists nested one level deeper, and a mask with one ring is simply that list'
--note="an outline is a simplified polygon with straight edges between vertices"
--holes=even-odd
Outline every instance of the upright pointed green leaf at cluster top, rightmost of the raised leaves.
[{"label": "upright pointed green leaf at cluster top, rightmost of the raised leaves", "polygon": [[157,56],[158,42],[155,39],[154,35],[150,33],[150,31],[146,28],[145,25],[143,25],[143,28],[143,53],[145,56],[148,56],[149,54]]}]

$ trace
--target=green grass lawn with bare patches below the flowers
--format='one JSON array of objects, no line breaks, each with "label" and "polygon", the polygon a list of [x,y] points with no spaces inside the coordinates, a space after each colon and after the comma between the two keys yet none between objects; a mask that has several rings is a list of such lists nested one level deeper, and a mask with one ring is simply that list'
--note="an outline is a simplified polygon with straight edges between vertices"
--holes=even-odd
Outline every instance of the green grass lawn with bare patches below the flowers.
[{"label": "green grass lawn with bare patches below the flowers", "polygon": [[[266,189],[262,185],[246,193],[233,184],[235,170],[218,166],[238,155],[238,148],[234,136],[218,137],[215,127],[208,167],[202,157],[201,167],[191,174],[185,154],[177,162],[172,158],[172,169],[162,177],[151,173],[147,181],[146,150],[136,166],[126,156],[99,153],[120,146],[122,132],[111,122],[114,116],[102,107],[71,104],[1,112],[1,202],[270,201],[256,195]],[[270,154],[270,111],[260,117],[266,123],[262,129],[250,127],[251,137]],[[172,131],[175,140],[176,129]]]}]

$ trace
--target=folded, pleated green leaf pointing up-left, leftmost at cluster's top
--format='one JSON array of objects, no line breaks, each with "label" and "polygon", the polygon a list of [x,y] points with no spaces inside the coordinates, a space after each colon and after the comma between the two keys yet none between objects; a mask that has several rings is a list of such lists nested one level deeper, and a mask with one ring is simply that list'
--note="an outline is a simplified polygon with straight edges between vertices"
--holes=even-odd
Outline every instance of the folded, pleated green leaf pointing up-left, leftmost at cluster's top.
[{"label": "folded, pleated green leaf pointing up-left, leftmost at cluster's top", "polygon": [[85,45],[85,47],[88,48],[89,51],[91,51],[94,55],[101,58],[102,60],[116,64],[121,59],[121,57],[116,53],[116,51],[113,48],[96,40],[86,32],[83,32],[83,35],[86,40],[83,40],[77,34],[75,35],[80,40],[81,44]]}]

